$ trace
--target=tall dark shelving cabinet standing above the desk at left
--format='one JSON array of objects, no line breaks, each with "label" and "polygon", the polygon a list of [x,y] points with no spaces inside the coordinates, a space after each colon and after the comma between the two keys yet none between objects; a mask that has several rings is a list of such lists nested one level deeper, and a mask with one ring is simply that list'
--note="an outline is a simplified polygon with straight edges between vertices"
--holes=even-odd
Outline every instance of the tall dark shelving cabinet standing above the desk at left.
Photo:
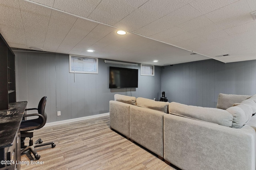
[{"label": "tall dark shelving cabinet standing above the desk at left", "polygon": [[16,102],[15,55],[0,34],[0,110]]}]

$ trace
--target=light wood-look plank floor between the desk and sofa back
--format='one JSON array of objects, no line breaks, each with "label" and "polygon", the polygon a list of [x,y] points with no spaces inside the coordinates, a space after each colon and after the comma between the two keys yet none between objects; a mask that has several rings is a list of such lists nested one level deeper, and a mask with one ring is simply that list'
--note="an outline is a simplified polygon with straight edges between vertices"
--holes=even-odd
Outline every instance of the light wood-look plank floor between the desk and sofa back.
[{"label": "light wood-look plank floor between the desk and sofa back", "polygon": [[54,141],[56,147],[36,148],[41,155],[38,161],[43,164],[31,164],[34,155],[22,155],[21,170],[174,170],[154,154],[112,131],[109,116],[34,130],[34,141],[39,138],[44,142]]}]

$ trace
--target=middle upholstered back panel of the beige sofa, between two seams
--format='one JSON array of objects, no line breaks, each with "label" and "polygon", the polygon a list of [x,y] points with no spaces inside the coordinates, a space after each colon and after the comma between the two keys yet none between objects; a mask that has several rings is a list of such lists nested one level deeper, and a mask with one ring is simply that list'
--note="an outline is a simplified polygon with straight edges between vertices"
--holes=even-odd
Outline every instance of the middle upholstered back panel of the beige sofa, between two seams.
[{"label": "middle upholstered back panel of the beige sofa, between two seams", "polygon": [[130,106],[130,139],[163,157],[163,115],[166,113]]}]

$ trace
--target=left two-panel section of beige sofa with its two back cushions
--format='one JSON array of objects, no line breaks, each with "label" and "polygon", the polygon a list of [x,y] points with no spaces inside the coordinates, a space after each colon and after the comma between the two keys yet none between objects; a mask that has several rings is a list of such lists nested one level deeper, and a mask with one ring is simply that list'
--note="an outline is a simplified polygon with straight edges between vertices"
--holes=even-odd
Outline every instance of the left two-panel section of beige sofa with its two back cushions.
[{"label": "left two-panel section of beige sofa with its two back cushions", "polygon": [[163,115],[167,112],[169,102],[119,94],[115,94],[114,99],[109,106],[110,128],[163,159]]}]

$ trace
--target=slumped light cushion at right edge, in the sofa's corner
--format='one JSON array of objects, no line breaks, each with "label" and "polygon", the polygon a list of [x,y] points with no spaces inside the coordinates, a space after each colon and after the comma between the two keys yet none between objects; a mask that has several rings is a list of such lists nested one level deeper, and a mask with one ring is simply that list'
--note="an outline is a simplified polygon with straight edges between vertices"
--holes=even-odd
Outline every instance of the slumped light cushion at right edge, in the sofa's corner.
[{"label": "slumped light cushion at right edge, in the sofa's corner", "polygon": [[243,127],[248,121],[250,121],[252,114],[256,113],[256,95],[242,101],[236,106],[229,107],[226,111],[233,115],[231,127]]}]

